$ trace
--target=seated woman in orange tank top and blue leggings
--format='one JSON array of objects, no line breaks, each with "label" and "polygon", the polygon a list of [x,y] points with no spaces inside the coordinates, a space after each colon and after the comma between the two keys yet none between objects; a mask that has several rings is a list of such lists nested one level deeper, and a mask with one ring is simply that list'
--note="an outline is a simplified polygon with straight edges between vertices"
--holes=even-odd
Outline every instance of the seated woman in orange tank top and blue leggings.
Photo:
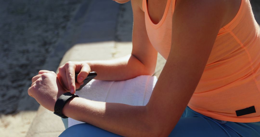
[{"label": "seated woman in orange tank top and blue leggings", "polygon": [[57,98],[66,92],[63,87],[75,93],[90,71],[98,72],[95,79],[100,80],[152,75],[158,51],[167,61],[148,104],[73,98],[62,113],[94,126],[75,125],[62,135],[259,136],[260,33],[249,0],[131,3],[131,56],[114,63],[69,62],[57,76],[40,71],[28,94],[54,111]]}]

